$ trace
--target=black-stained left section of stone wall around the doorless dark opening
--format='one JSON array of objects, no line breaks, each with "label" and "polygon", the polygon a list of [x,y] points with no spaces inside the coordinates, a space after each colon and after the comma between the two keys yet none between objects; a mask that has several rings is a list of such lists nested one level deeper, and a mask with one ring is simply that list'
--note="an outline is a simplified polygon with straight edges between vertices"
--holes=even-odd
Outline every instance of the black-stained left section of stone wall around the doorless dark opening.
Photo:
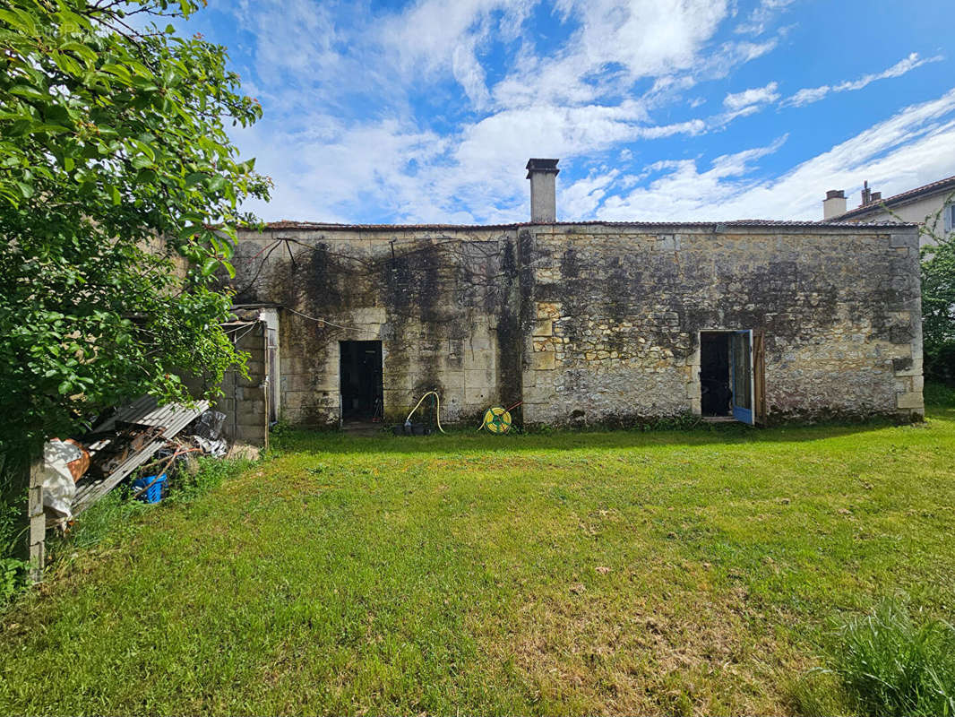
[{"label": "black-stained left section of stone wall around the doorless dark opening", "polygon": [[286,307],[284,418],[338,424],[339,341],[346,340],[382,342],[389,421],[403,421],[432,389],[449,423],[520,400],[514,237],[495,228],[244,233],[234,260],[236,301]]}]

